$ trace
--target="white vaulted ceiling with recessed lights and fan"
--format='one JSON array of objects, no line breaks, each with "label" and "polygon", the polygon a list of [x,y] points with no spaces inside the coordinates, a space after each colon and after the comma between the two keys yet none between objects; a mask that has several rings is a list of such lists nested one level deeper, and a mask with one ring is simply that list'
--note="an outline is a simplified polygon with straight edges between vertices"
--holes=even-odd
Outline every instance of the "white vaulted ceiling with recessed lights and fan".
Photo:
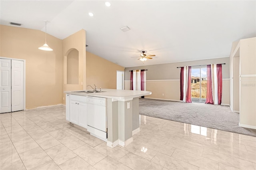
[{"label": "white vaulted ceiling with recessed lights and fan", "polygon": [[[105,2],[1,0],[0,24],[44,32],[48,20],[47,33],[60,39],[84,29],[87,51],[123,67],[228,57],[232,42],[256,37],[255,0]],[[156,57],[142,63],[141,51]]]}]

